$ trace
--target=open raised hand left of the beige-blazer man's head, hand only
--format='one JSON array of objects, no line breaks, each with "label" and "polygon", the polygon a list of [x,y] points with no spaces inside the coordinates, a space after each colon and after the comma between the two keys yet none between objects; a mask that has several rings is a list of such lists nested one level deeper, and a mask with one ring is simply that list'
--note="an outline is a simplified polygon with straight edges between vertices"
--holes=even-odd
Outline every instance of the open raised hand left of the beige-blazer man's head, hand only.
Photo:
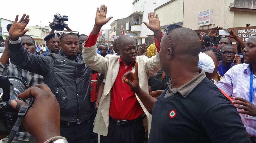
[{"label": "open raised hand left of the beige-blazer man's head, hand only", "polygon": [[99,8],[97,8],[95,24],[103,26],[104,24],[108,23],[108,21],[110,21],[111,18],[113,18],[113,17],[106,18],[106,16],[107,16],[107,6],[103,4],[101,5],[100,10]]}]

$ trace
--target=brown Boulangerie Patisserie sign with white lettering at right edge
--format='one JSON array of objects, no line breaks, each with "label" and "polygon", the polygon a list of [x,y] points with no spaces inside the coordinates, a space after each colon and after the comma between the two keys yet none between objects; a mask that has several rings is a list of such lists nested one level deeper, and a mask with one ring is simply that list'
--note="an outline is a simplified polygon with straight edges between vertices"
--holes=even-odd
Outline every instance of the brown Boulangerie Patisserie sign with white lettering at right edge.
[{"label": "brown Boulangerie Patisserie sign with white lettering at right edge", "polygon": [[[253,35],[256,35],[256,26],[251,27],[235,27],[235,28],[229,28],[233,30],[238,37],[240,37],[244,42],[247,41],[247,39]],[[237,45],[236,40],[233,38],[230,38],[233,45]]]}]

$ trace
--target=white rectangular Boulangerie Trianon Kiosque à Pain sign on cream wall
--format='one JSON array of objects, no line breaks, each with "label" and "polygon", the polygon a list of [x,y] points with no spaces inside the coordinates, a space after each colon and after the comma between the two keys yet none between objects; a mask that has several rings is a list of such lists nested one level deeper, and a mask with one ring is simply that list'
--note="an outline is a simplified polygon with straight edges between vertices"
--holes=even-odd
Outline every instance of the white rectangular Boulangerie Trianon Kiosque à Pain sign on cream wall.
[{"label": "white rectangular Boulangerie Trianon Kiosque \u00e0 Pain sign on cream wall", "polygon": [[198,26],[212,24],[212,10],[200,12],[198,15]]}]

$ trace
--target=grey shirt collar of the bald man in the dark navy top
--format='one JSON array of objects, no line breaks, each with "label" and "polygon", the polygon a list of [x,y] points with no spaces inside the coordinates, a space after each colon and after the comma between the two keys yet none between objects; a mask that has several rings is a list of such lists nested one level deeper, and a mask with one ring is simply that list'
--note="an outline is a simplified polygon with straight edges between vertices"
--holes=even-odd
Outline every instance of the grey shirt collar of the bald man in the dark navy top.
[{"label": "grey shirt collar of the bald man in the dark navy top", "polygon": [[167,85],[169,86],[168,91],[165,93],[164,98],[170,97],[175,93],[179,92],[183,98],[186,98],[188,94],[205,78],[205,71],[199,69],[199,74],[190,80],[188,83],[182,85],[179,88],[172,88],[172,80],[170,80]]}]

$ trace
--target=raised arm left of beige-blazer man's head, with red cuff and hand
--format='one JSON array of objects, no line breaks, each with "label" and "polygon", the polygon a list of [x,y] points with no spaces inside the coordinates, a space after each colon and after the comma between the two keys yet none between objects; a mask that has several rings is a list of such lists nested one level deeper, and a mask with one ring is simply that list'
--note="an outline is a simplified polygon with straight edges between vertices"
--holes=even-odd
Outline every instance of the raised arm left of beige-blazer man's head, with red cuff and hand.
[{"label": "raised arm left of beige-blazer man's head, with red cuff and hand", "polygon": [[88,39],[83,43],[83,59],[84,63],[89,65],[92,70],[105,74],[108,66],[108,58],[104,58],[97,54],[96,41],[101,27],[106,24],[112,17],[106,18],[107,6],[101,5],[97,8],[95,24]]}]

